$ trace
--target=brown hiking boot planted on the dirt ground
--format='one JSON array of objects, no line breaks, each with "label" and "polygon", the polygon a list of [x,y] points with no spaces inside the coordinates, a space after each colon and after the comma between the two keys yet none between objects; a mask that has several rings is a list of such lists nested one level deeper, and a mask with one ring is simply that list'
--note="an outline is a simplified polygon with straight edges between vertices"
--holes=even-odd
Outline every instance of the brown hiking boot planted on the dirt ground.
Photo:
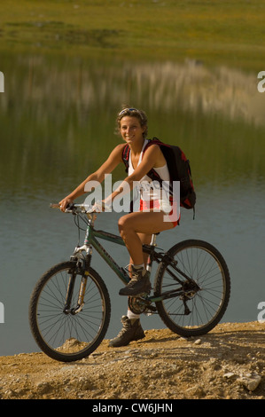
[{"label": "brown hiking boot planted on the dirt ground", "polygon": [[119,348],[120,346],[127,346],[129,342],[144,339],[144,330],[140,324],[140,319],[130,320],[127,316],[121,317],[123,327],[121,332],[114,339],[110,340],[109,346]]}]

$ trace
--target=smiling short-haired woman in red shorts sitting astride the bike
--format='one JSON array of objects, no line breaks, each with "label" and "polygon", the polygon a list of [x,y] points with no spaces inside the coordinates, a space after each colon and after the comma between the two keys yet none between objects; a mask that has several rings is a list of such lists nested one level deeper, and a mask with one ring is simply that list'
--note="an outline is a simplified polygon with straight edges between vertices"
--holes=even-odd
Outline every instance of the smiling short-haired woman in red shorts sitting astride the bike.
[{"label": "smiling short-haired woman in red shorts sitting astride the bike", "polygon": [[[151,169],[155,169],[163,181],[169,181],[167,161],[160,151],[160,146],[154,144],[144,150],[147,136],[146,115],[136,108],[124,108],[118,114],[117,125],[124,143],[116,146],[103,165],[96,172],[90,174],[59,204],[61,210],[65,211],[68,204],[85,193],[85,186],[90,181],[101,183],[105,179],[105,174],[111,173],[119,163],[123,162],[123,149],[126,144],[129,145],[128,177],[124,179],[118,189],[103,201],[103,207],[104,204],[112,203],[123,189],[132,189],[136,184],[145,186],[145,192],[142,190],[139,211],[121,216],[119,220],[119,231],[129,250],[131,264],[131,279],[126,287],[121,288],[119,294],[136,296],[149,292],[151,289],[150,272],[144,269],[146,259],[142,250],[143,243],[150,243],[152,233],[175,227],[177,220],[175,222],[165,221],[165,214],[170,211],[171,205],[165,199],[161,199],[160,195],[157,195],[157,190],[153,191],[150,187],[146,193],[146,184],[151,183],[147,173]],[[123,323],[121,332],[110,341],[111,346],[125,346],[131,341],[144,338],[144,330],[140,325],[139,316],[132,311],[128,311],[128,315],[123,316],[121,322]]]}]

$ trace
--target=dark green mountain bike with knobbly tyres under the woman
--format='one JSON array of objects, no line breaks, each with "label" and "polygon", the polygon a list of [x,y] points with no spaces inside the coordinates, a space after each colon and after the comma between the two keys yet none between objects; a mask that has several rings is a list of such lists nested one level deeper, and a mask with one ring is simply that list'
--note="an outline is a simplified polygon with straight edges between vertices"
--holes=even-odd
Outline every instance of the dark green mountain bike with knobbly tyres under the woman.
[{"label": "dark green mountain bike with knobbly tyres under the woman", "polygon": [[[90,266],[93,249],[125,285],[129,268],[117,264],[98,241],[125,246],[121,236],[95,229],[97,213],[84,204],[73,204],[66,212],[74,215],[85,238],[68,261],[52,266],[37,281],[29,303],[29,323],[35,342],[45,354],[71,362],[97,349],[111,317],[105,281]],[[129,309],[136,314],[158,314],[180,336],[207,334],[222,319],[229,303],[227,264],[220,252],[203,240],[183,240],[164,251],[157,246],[158,234],[152,235],[150,245],[143,245],[148,254],[147,270],[158,264],[152,290],[129,296]]]}]

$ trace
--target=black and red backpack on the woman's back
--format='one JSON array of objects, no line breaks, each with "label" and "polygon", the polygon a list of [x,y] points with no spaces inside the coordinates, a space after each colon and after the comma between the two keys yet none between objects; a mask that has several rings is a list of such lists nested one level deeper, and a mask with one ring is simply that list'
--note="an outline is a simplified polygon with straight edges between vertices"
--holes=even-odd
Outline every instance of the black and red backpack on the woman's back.
[{"label": "black and red backpack on the woman's back", "polygon": [[[151,146],[151,145],[159,145],[160,150],[163,153],[167,164],[168,164],[168,171],[170,176],[170,184],[172,189],[173,181],[180,182],[180,203],[181,206],[185,209],[193,209],[196,203],[196,193],[194,191],[194,185],[191,178],[191,166],[190,161],[187,160],[183,151],[174,145],[164,144],[158,138],[152,138],[148,140],[148,143],[144,147],[144,151]],[[129,145],[124,146],[122,152],[122,161],[125,164],[126,172],[129,169]],[[152,179],[152,181],[159,181],[161,182],[161,178],[159,174],[155,171],[155,169],[151,169],[148,174],[148,177]]]}]

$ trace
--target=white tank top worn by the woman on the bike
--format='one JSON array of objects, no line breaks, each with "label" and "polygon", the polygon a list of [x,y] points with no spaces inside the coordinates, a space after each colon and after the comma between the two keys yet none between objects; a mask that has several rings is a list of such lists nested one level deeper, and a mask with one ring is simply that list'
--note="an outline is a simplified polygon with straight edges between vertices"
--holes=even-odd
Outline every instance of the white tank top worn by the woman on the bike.
[{"label": "white tank top worn by the woman on the bike", "polygon": [[[139,157],[139,161],[137,166],[139,166],[139,164],[141,163],[142,159],[143,159],[143,153],[144,153],[144,147],[146,146],[148,140],[145,139],[144,140],[144,145],[142,148],[142,152],[140,153],[140,157]],[[169,182],[170,177],[169,177],[169,171],[168,171],[168,165],[167,162],[163,167],[159,167],[159,168],[153,168],[160,176],[160,178],[162,179],[162,181],[167,181]],[[132,161],[131,161],[131,157],[130,157],[130,152],[129,152],[129,169],[128,169],[128,175],[131,175],[134,172],[134,168],[132,165]],[[160,193],[160,187],[152,187],[153,183],[152,183],[152,179],[150,177],[148,177],[147,175],[144,175],[143,178],[140,179],[139,181],[139,191],[141,193],[141,199],[144,201],[150,201],[150,200],[160,200],[161,201],[161,193]],[[161,201],[162,203],[162,201]]]}]

